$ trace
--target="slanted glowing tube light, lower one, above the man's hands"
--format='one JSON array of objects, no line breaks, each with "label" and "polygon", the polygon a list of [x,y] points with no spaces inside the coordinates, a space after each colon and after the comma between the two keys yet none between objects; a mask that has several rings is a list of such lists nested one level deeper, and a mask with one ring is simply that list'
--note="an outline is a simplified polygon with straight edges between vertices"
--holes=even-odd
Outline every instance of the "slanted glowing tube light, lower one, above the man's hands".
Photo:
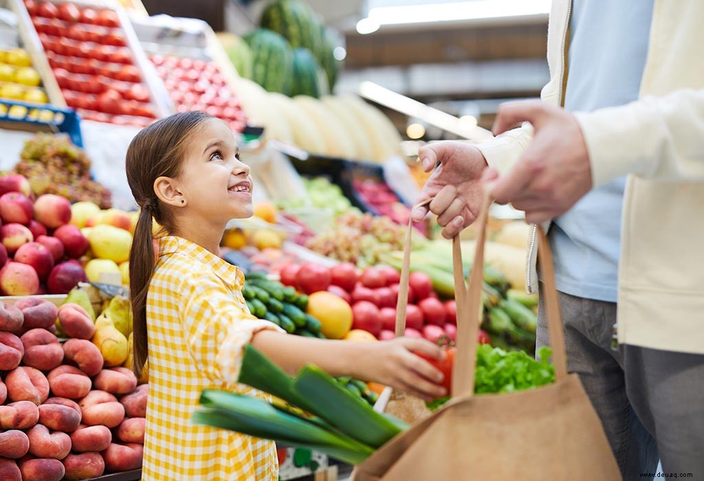
[{"label": "slanted glowing tube light, lower one, above the man's hands", "polygon": [[476,120],[474,122],[467,122],[467,120],[463,122],[454,115],[429,107],[425,103],[420,103],[413,98],[398,94],[374,82],[367,81],[359,84],[359,94],[364,98],[408,115],[408,117],[415,117],[427,122],[427,124],[439,127],[446,132],[452,132],[465,139],[481,142],[494,138],[488,130],[477,127]]}]

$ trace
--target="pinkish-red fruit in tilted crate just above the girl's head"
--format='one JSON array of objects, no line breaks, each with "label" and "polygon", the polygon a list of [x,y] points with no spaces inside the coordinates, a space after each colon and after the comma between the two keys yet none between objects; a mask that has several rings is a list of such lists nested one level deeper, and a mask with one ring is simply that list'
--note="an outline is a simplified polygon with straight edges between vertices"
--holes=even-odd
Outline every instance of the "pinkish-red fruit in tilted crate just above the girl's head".
[{"label": "pinkish-red fruit in tilted crate just above the girl's head", "polygon": [[247,117],[237,95],[220,75],[217,63],[172,55],[152,55],[150,59],[164,80],[177,112],[203,110],[227,122],[234,132],[244,130]]}]

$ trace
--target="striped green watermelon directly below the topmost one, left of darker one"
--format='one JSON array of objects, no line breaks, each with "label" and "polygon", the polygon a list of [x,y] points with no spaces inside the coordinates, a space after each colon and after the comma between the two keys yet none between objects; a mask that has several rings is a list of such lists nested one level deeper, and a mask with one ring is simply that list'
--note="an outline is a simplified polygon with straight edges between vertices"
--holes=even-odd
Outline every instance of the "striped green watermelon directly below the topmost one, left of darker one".
[{"label": "striped green watermelon directly below the topmost one, left of darker one", "polygon": [[244,36],[252,51],[252,80],[270,92],[291,92],[294,73],[294,53],[281,35],[258,28]]}]

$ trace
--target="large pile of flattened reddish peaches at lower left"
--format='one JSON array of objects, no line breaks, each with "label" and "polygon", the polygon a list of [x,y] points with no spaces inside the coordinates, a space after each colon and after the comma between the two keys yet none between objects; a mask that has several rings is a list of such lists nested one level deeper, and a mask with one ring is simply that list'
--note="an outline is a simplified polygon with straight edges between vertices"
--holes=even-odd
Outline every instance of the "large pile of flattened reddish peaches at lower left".
[{"label": "large pile of flattened reddish peaches at lower left", "polygon": [[[3,480],[88,479],[142,466],[148,387],[103,360],[101,327],[81,304],[0,302]],[[59,343],[55,321],[75,337]]]}]

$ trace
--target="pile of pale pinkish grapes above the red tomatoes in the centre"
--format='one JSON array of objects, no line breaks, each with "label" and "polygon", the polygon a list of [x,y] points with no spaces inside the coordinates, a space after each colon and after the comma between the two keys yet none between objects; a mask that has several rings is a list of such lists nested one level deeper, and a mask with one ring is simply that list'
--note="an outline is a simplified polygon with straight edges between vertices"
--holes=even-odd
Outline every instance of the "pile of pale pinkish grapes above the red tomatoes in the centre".
[{"label": "pile of pale pinkish grapes above the red tomatoes in the centre", "polygon": [[[413,248],[424,241],[420,235],[413,236]],[[406,228],[388,217],[351,211],[338,217],[331,229],[308,240],[306,247],[364,269],[379,264],[379,258],[386,252],[403,250],[405,242]]]}]

